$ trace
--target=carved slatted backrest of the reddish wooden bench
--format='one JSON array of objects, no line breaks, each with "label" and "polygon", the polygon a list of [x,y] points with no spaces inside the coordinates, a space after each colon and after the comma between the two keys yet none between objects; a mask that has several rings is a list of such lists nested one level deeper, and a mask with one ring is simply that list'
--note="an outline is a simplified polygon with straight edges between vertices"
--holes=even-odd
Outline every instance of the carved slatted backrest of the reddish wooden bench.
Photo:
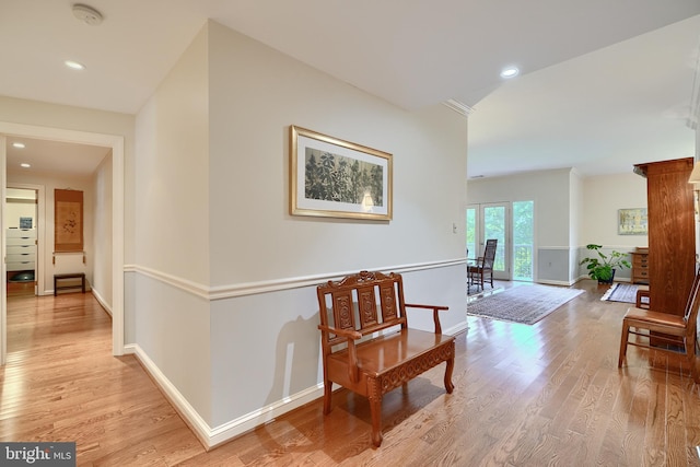
[{"label": "carved slatted backrest of the reddish wooden bench", "polygon": [[[362,271],[340,282],[328,281],[318,287],[317,293],[324,326],[357,330],[362,336],[407,326],[400,275]],[[332,347],[346,340],[328,335],[324,343]]]}]

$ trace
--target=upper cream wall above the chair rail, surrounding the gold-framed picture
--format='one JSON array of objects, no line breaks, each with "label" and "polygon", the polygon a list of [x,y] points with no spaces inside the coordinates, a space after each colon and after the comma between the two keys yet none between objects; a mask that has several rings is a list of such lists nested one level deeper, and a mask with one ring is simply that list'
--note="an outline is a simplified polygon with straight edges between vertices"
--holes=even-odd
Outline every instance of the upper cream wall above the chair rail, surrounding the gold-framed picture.
[{"label": "upper cream wall above the chair rail, surrounding the gold-framed picture", "polygon": [[[213,285],[380,268],[409,256],[447,259],[464,249],[464,235],[452,233],[453,222],[464,230],[464,117],[442,105],[408,113],[209,27]],[[394,220],[290,215],[290,125],[394,154]]]}]

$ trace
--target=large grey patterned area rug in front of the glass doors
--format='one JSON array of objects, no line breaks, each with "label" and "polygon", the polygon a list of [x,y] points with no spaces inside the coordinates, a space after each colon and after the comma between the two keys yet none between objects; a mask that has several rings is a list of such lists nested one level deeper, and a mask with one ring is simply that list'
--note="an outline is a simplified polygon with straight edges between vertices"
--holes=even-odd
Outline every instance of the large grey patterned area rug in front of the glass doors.
[{"label": "large grey patterned area rug in front of the glass doors", "polygon": [[551,285],[518,285],[467,304],[467,314],[509,323],[534,325],[582,290]]}]

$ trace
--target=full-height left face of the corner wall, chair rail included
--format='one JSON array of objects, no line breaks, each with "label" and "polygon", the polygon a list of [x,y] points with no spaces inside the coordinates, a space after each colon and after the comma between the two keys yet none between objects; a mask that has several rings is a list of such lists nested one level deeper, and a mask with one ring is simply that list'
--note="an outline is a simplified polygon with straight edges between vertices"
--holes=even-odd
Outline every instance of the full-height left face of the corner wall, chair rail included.
[{"label": "full-height left face of the corner wall, chair rail included", "polygon": [[202,30],[137,116],[138,276],[127,282],[136,287],[127,338],[209,421],[207,48]]}]

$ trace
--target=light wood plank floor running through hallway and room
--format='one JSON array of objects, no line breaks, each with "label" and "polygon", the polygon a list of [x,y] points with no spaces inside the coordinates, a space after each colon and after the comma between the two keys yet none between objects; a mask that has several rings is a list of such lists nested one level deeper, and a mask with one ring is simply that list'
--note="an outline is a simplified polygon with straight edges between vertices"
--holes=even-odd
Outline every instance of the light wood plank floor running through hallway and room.
[{"label": "light wood plank floor running through hallway and room", "polygon": [[[104,466],[700,465],[700,396],[679,359],[630,348],[628,305],[587,290],[535,326],[469,317],[455,390],[444,366],[386,396],[384,442],[364,399],[335,394],[209,453],[133,357],[110,355],[110,322],[90,293],[12,296],[0,369],[0,440],[75,441]],[[232,394],[231,397],[235,397]]]}]

